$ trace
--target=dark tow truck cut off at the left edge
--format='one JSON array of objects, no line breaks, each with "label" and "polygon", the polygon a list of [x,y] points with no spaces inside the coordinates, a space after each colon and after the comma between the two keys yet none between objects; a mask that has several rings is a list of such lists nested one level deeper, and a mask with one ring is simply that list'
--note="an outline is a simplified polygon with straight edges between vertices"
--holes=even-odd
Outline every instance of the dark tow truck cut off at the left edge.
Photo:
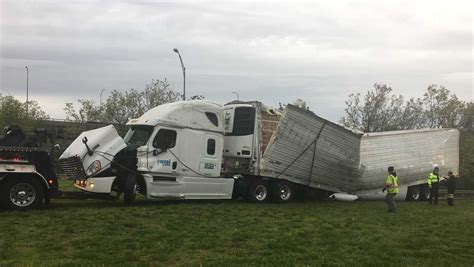
[{"label": "dark tow truck cut off at the left edge", "polygon": [[58,177],[51,153],[41,147],[45,129],[26,135],[18,126],[7,126],[0,135],[0,205],[24,210],[49,204],[59,196]]}]

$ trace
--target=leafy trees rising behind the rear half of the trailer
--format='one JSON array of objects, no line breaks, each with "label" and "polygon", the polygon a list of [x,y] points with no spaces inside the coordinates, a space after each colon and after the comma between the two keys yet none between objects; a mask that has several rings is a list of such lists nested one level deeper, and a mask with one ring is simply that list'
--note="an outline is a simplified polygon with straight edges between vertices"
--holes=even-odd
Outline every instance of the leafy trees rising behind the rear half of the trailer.
[{"label": "leafy trees rising behind the rear half of the trailer", "polygon": [[421,128],[472,130],[474,105],[451,94],[444,86],[430,85],[422,97],[405,100],[385,84],[374,84],[365,95],[350,94],[341,124],[362,132]]}]

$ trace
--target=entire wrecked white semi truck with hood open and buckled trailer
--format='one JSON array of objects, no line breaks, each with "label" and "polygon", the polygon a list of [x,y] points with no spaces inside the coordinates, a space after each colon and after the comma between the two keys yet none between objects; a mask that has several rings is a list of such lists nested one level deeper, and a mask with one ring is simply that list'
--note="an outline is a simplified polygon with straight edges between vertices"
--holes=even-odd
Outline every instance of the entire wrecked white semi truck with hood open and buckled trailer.
[{"label": "entire wrecked white semi truck with hood open and buckled trailer", "polygon": [[[308,110],[260,102],[181,101],[128,122],[83,132],[61,155],[75,186],[90,194],[147,199],[287,202],[298,194],[377,199],[387,167],[398,199],[423,200],[433,167],[458,173],[459,131],[354,133]],[[354,199],[354,198],[351,198]]]}]

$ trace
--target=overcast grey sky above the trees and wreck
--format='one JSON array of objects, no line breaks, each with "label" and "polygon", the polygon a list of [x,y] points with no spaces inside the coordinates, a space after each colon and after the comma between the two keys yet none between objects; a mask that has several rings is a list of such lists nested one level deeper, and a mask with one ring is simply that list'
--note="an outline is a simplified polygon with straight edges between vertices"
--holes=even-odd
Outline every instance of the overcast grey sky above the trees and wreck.
[{"label": "overcast grey sky above the trees and wreck", "polygon": [[[66,102],[167,79],[186,95],[270,106],[303,99],[334,122],[374,83],[421,97],[473,89],[473,1],[0,0],[0,93]],[[233,93],[237,92],[237,94]]]}]

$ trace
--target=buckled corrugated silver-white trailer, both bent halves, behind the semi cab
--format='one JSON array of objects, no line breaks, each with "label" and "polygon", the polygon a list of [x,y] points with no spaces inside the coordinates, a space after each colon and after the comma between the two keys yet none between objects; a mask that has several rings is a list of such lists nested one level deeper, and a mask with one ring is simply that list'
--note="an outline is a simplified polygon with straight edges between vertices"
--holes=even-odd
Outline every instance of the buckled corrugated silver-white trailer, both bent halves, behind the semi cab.
[{"label": "buckled corrugated silver-white trailer, both bent halves, behind the semi cab", "polygon": [[388,166],[395,166],[399,176],[398,198],[425,199],[426,177],[433,167],[458,173],[459,131],[359,134],[289,105],[263,152],[258,174],[360,198],[380,198]]}]

